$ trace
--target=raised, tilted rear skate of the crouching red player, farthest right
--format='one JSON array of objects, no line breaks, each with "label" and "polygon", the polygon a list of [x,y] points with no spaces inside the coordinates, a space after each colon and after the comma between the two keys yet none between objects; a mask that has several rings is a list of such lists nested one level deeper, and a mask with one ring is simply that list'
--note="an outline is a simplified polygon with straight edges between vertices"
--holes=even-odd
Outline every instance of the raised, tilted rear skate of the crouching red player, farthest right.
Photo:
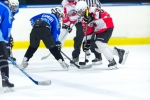
[{"label": "raised, tilted rear skate of the crouching red player, farthest right", "polygon": [[123,49],[118,49],[118,48],[116,48],[116,47],[115,47],[115,49],[116,49],[117,52],[118,52],[118,56],[119,56],[119,64],[124,65],[124,63],[125,63],[126,60],[127,60],[129,51],[125,51],[125,50],[123,50]]}]

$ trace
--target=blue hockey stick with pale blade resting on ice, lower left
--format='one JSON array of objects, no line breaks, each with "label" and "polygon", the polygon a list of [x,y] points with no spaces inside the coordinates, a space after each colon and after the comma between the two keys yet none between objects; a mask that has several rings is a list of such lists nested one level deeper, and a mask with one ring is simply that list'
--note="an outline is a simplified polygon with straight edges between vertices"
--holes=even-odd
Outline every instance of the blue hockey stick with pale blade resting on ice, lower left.
[{"label": "blue hockey stick with pale blade resting on ice, lower left", "polygon": [[42,86],[46,86],[46,85],[51,85],[51,81],[47,80],[47,81],[36,81],[34,80],[32,77],[30,77],[24,70],[20,69],[18,67],[18,65],[16,64],[15,61],[13,61],[10,57],[8,57],[8,60],[10,60],[12,62],[12,64],[14,66],[16,66],[22,73],[24,73],[33,83],[35,83],[36,85],[42,85]]}]

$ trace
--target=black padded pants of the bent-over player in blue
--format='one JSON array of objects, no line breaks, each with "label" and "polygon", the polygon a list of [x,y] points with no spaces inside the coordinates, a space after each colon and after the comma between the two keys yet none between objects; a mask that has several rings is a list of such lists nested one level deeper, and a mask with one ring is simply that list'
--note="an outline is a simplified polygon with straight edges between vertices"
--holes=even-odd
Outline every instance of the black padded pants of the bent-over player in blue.
[{"label": "black padded pants of the bent-over player in blue", "polygon": [[34,26],[30,33],[30,46],[38,48],[40,40],[43,41],[46,48],[51,49],[55,46],[54,39],[51,35],[49,25],[46,22],[41,22],[40,25]]}]

